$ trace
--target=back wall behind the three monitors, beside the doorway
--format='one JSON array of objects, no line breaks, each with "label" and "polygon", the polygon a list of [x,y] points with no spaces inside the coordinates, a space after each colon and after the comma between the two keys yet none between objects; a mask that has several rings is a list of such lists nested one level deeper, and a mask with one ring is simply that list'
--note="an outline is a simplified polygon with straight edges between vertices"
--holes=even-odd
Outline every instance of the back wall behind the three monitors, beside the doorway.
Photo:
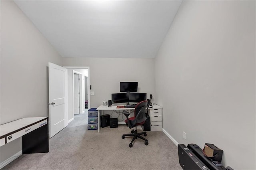
[{"label": "back wall behind the three monitors, beside the doorway", "polygon": [[154,59],[64,57],[63,65],[90,67],[90,91],[95,93],[91,108],[111,100],[111,93],[120,93],[120,81],[138,81],[138,92],[154,96]]}]

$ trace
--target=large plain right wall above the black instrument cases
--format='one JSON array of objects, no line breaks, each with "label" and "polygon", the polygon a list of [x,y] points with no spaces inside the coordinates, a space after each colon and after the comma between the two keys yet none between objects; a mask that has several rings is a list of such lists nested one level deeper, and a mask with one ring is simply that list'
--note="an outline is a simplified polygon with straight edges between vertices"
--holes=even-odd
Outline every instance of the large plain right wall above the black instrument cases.
[{"label": "large plain right wall above the black instrument cases", "polygon": [[155,60],[163,128],[255,170],[255,1],[183,1]]}]

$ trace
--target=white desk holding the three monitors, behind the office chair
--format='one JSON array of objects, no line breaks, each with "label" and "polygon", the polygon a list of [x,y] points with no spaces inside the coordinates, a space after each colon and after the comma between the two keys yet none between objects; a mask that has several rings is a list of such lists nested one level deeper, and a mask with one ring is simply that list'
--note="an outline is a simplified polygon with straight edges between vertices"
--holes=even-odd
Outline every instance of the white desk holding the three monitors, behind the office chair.
[{"label": "white desk holding the three monitors, behind the office chair", "polygon": [[[118,105],[112,105],[110,107],[100,105],[96,110],[98,111],[98,132],[100,132],[100,111],[112,111],[112,110],[134,110],[135,108],[116,108]],[[148,109],[162,109],[161,106],[153,105],[152,108]],[[118,124],[124,124],[124,123],[118,123]]]}]

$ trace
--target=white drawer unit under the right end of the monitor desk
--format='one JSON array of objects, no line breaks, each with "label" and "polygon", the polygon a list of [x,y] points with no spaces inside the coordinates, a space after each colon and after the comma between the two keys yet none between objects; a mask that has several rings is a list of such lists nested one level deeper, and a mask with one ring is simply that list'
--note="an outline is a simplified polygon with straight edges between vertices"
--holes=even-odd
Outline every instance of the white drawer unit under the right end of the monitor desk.
[{"label": "white drawer unit under the right end of the monitor desk", "polygon": [[162,107],[150,109],[150,130],[162,131]]}]

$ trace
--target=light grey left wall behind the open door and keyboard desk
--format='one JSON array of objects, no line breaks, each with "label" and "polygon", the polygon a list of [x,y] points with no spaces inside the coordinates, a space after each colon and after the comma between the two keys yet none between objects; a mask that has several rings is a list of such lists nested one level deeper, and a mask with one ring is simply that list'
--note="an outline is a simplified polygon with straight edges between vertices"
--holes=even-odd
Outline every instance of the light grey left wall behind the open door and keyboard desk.
[{"label": "light grey left wall behind the open door and keyboard desk", "polygon": [[[48,62],[62,58],[13,1],[0,3],[0,124],[48,116]],[[11,143],[0,147],[0,163],[22,149],[20,139]]]}]

